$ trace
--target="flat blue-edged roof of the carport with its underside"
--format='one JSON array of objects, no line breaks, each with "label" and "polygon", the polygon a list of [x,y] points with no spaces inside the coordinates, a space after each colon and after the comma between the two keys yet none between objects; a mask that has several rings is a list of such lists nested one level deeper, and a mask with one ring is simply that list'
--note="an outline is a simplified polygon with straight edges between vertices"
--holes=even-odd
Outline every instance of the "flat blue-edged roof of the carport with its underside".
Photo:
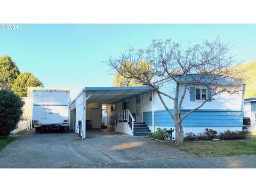
[{"label": "flat blue-edged roof of the carport with its underside", "polygon": [[115,103],[125,98],[134,97],[138,94],[153,90],[151,87],[85,87],[87,103]]}]

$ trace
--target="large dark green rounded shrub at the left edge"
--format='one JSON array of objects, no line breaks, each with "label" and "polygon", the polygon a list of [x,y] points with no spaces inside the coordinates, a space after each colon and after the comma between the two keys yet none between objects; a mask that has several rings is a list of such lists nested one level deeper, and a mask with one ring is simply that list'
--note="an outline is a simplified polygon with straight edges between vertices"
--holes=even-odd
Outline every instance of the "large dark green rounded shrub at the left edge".
[{"label": "large dark green rounded shrub at the left edge", "polygon": [[7,137],[21,119],[24,102],[9,90],[0,90],[0,135]]}]

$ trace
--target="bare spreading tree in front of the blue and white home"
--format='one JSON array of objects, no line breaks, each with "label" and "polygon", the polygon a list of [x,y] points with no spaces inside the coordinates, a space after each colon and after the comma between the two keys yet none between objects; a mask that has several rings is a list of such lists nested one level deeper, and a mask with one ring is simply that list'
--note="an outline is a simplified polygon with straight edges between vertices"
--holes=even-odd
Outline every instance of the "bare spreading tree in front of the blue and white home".
[{"label": "bare spreading tree in front of the blue and white home", "polygon": [[[207,101],[214,99],[215,95],[227,92],[236,94],[243,90],[242,74],[244,73],[234,69],[233,66],[238,63],[234,60],[234,56],[229,54],[230,48],[228,44],[221,43],[219,38],[211,42],[204,40],[201,45],[189,46],[186,51],[182,50],[178,43],[172,43],[171,39],[166,41],[157,39],[153,40],[145,50],[134,51],[130,47],[118,59],[110,57],[106,64],[115,73],[153,87],[175,125],[175,143],[181,145],[182,121],[188,115],[201,108]],[[151,67],[139,68],[138,63],[141,61],[150,63]],[[165,79],[175,82],[174,92],[161,91],[161,82]],[[184,89],[178,97],[179,84],[182,84]],[[191,86],[207,87],[211,94],[207,95],[196,108],[182,114],[182,102]],[[173,100],[174,113],[171,113],[166,106],[163,96]]]}]

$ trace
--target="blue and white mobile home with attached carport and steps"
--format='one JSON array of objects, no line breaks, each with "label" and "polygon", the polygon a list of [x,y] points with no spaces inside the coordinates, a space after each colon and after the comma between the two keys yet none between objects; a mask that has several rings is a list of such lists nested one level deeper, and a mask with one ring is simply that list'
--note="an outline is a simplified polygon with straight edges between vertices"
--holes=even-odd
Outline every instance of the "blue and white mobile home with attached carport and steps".
[{"label": "blue and white mobile home with attached carport and steps", "polygon": [[[166,79],[158,82],[159,90],[173,94],[176,83]],[[227,86],[227,85],[226,85]],[[231,85],[228,85],[232,89]],[[179,99],[182,83],[179,84]],[[243,86],[244,89],[244,86]],[[186,117],[183,122],[184,133],[203,133],[206,128],[223,132],[242,131],[244,91],[237,94],[223,93]],[[190,86],[182,102],[182,113],[196,108],[202,100],[211,95],[211,89],[204,86]],[[163,99],[173,113],[173,100]],[[77,132],[78,121],[82,121],[83,138],[86,137],[85,122],[92,122],[92,128],[100,128],[102,104],[107,106],[107,123],[115,131],[130,135],[146,135],[150,131],[174,129],[171,116],[164,109],[161,100],[151,87],[85,87],[70,105],[70,129]],[[175,137],[175,132],[173,134]]]}]

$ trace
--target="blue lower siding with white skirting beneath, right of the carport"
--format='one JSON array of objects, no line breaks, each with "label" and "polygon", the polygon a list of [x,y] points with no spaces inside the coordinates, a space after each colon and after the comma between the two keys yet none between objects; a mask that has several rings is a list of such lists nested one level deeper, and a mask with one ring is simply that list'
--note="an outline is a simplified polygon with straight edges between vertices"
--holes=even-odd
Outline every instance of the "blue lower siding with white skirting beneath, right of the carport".
[{"label": "blue lower siding with white skirting beneath, right of the carport", "polygon": [[[186,114],[188,111],[189,109],[182,110],[181,113]],[[202,109],[187,116],[183,120],[182,125],[185,133],[203,133],[206,128],[214,129],[218,132],[223,132],[228,129],[232,131],[242,131],[243,113],[239,110]],[[155,127],[174,129],[173,121],[166,110],[155,111]]]}]

